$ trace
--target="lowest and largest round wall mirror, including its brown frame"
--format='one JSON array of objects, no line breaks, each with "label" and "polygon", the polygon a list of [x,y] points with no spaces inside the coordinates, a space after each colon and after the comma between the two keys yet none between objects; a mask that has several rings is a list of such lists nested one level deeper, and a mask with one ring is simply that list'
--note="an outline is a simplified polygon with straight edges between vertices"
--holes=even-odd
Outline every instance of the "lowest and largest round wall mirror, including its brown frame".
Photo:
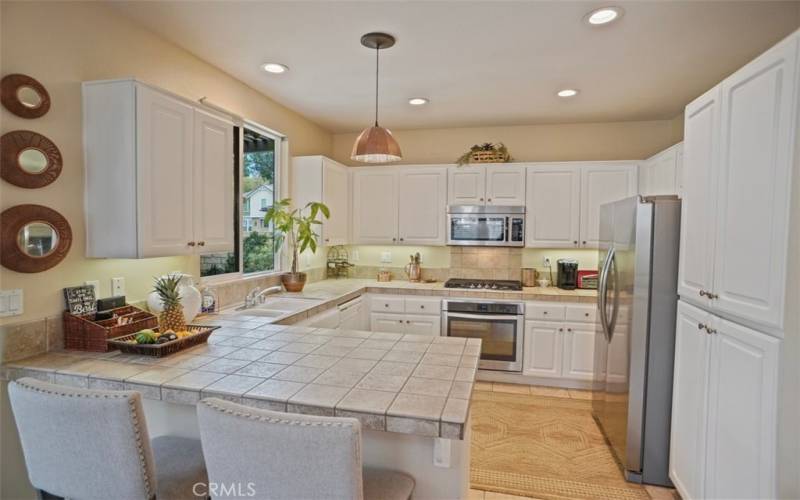
[{"label": "lowest and largest round wall mirror, including its brown frame", "polygon": [[0,214],[0,263],[20,273],[38,273],[61,262],[72,246],[72,228],[53,209],[17,205]]}]

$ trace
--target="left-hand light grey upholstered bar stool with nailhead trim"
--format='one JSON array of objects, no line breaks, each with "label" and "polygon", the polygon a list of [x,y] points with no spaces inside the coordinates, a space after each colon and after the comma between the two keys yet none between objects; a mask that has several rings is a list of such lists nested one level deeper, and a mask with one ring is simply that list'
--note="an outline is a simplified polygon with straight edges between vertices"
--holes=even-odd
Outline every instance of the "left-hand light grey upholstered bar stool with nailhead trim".
[{"label": "left-hand light grey upholstered bar stool with nailhead trim", "polygon": [[40,492],[81,500],[191,499],[202,483],[198,493],[205,495],[200,441],[150,441],[138,392],[23,378],[8,393],[28,477]]}]

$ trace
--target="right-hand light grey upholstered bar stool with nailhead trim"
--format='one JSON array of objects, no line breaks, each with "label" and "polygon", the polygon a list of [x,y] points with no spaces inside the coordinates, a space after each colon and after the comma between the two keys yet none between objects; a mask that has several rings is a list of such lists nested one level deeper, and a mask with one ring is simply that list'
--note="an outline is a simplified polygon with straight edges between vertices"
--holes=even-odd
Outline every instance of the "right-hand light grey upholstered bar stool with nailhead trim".
[{"label": "right-hand light grey upholstered bar stool with nailhead trim", "polygon": [[251,408],[209,398],[197,405],[200,440],[212,497],[258,499],[407,500],[414,478],[362,469],[356,419],[316,417]]}]

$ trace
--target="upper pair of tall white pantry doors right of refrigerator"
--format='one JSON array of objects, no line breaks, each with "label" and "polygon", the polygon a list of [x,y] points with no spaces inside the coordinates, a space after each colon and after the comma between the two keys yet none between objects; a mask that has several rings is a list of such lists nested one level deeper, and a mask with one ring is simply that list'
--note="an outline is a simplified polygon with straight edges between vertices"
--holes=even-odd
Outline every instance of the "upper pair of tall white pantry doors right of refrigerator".
[{"label": "upper pair of tall white pantry doors right of refrigerator", "polygon": [[679,293],[781,336],[798,37],[686,107]]}]

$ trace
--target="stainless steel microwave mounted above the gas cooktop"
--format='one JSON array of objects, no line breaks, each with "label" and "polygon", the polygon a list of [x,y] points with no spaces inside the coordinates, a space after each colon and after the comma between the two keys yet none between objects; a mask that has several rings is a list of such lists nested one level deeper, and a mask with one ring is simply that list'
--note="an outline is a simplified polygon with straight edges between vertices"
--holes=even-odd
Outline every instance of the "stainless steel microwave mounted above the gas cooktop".
[{"label": "stainless steel microwave mounted above the gas cooktop", "polygon": [[447,244],[525,246],[525,207],[450,205]]}]

